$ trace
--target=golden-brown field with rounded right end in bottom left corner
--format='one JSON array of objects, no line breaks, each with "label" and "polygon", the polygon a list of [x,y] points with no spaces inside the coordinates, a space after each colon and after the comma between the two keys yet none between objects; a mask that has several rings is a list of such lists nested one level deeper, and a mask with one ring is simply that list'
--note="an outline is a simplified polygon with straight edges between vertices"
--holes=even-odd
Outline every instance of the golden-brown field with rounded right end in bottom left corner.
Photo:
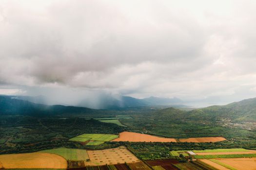
[{"label": "golden-brown field with rounded right end in bottom left corner", "polygon": [[0,162],[5,169],[65,169],[67,161],[52,153],[2,154]]}]

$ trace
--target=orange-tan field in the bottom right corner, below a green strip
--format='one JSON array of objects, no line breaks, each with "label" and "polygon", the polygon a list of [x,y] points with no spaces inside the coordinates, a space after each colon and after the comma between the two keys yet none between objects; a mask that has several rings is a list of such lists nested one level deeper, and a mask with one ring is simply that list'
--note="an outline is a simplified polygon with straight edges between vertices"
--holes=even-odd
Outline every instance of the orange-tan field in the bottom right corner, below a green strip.
[{"label": "orange-tan field in the bottom right corner, below a green strip", "polygon": [[256,170],[256,157],[217,159],[219,162],[230,165],[237,170]]}]

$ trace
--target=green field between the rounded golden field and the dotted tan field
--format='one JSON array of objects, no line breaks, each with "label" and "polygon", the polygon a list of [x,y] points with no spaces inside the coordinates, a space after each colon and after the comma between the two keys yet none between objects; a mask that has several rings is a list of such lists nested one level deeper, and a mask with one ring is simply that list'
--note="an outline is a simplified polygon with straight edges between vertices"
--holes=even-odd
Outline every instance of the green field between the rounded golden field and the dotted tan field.
[{"label": "green field between the rounded golden field and the dotted tan field", "polygon": [[54,153],[64,157],[66,160],[86,160],[89,159],[86,150],[83,149],[69,149],[69,148],[57,148],[40,151],[41,153]]}]

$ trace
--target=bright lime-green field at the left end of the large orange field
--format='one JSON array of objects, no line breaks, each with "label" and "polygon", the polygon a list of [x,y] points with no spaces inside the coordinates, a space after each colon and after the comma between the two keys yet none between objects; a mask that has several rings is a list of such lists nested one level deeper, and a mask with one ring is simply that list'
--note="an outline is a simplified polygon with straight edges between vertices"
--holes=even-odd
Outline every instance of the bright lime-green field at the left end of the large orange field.
[{"label": "bright lime-green field at the left end of the large orange field", "polygon": [[90,138],[90,140],[94,141],[110,141],[115,138],[118,138],[118,135],[111,135],[111,134],[82,134],[76,137],[81,138]]}]

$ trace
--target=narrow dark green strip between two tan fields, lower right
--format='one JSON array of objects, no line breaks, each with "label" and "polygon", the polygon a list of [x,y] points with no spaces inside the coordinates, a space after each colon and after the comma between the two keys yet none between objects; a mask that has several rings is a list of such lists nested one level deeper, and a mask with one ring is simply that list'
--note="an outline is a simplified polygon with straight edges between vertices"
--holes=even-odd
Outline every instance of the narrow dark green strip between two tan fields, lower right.
[{"label": "narrow dark green strip between two tan fields, lower right", "polygon": [[252,153],[252,154],[193,155],[193,157],[195,159],[244,158],[244,157],[256,157],[256,153]]}]

